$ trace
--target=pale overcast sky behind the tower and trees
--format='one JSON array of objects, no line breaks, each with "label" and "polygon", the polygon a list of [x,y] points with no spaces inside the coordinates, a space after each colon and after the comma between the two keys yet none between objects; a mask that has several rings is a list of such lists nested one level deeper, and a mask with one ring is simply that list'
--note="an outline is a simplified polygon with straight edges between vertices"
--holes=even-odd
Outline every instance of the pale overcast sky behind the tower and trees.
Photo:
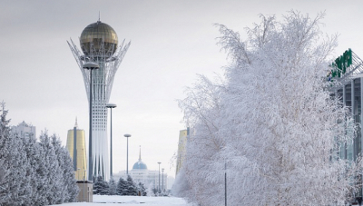
[{"label": "pale overcast sky behind the tower and trees", "polygon": [[13,1],[0,0],[0,100],[16,125],[25,121],[56,133],[65,145],[66,134],[78,125],[88,139],[88,103],[83,77],[66,40],[76,44],[83,28],[98,20],[111,25],[119,41],[132,41],[113,83],[113,172],[138,159],[169,175],[179,131],[184,129],[177,99],[196,74],[222,73],[228,64],[220,52],[213,24],[239,31],[259,22],[259,14],[286,15],[290,9],[310,16],[326,11],[322,29],[338,33],[336,54],[346,49],[363,57],[362,1],[223,0],[223,1]]}]

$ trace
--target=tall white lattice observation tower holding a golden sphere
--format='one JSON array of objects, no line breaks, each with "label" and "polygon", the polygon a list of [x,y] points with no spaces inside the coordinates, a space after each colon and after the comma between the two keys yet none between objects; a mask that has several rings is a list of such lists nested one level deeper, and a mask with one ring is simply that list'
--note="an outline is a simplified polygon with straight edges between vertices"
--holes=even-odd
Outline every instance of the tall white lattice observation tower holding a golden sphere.
[{"label": "tall white lattice observation tower holding a golden sphere", "polygon": [[[88,170],[88,180],[102,175],[104,180],[110,178],[109,152],[107,141],[107,108],[111,90],[113,88],[113,78],[117,69],[123,62],[131,42],[119,44],[116,32],[110,25],[104,24],[100,20],[88,25],[83,29],[80,37],[82,52],[77,48],[71,39],[67,42],[74,54],[81,73],[88,101],[90,101],[90,72],[92,71],[92,160]],[[88,70],[83,68],[83,64],[95,63],[99,69]],[[89,103],[89,102],[88,102]],[[89,171],[92,170],[92,171]]]}]

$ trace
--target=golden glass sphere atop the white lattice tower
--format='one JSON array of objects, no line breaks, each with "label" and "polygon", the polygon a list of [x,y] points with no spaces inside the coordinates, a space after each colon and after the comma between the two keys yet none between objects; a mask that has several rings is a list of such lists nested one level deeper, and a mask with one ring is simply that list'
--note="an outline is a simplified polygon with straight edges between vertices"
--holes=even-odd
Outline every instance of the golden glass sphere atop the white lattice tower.
[{"label": "golden glass sphere atop the white lattice tower", "polygon": [[[104,41],[104,51],[100,51],[102,40]],[[94,50],[97,54],[112,55],[116,51],[119,41],[113,27],[97,21],[96,23],[87,25],[83,29],[80,42],[83,54],[85,55],[90,54],[91,43],[93,43]]]}]

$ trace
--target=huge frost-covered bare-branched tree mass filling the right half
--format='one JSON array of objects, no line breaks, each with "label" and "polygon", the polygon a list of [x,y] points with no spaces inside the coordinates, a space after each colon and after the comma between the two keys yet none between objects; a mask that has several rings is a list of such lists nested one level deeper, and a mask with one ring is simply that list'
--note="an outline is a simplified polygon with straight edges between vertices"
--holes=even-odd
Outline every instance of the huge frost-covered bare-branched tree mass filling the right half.
[{"label": "huge frost-covered bare-branched tree mass filling the right half", "polygon": [[179,194],[220,205],[227,172],[231,205],[343,204],[361,162],[337,158],[355,125],[324,78],[336,36],[320,32],[324,14],[260,17],[246,41],[218,25],[231,60],[225,80],[201,76],[180,102],[192,132]]}]

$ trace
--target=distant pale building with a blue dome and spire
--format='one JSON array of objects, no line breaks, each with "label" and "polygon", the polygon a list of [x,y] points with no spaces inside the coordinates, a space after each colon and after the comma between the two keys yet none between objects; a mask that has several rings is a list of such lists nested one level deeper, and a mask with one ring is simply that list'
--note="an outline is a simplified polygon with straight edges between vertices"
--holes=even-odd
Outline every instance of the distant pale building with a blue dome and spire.
[{"label": "distant pale building with a blue dome and spire", "polygon": [[[129,175],[132,177],[134,182],[142,182],[143,185],[148,189],[159,188],[159,171],[149,171],[147,165],[142,162],[142,153],[140,149],[139,161],[133,164],[132,170],[129,171]],[[121,171],[113,175],[115,181],[122,177],[124,180],[127,179],[126,171]],[[160,171],[160,190],[167,190],[168,174]]]}]

